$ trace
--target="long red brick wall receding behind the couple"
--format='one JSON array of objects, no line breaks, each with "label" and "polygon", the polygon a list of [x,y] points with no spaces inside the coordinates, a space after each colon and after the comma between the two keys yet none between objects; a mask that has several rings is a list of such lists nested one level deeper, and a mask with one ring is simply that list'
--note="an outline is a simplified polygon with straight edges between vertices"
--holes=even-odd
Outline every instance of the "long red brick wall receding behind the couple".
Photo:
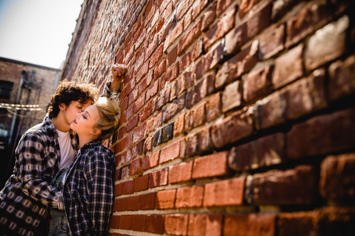
[{"label": "long red brick wall receding behind the couple", "polygon": [[354,11],[85,1],[62,78],[129,68],[110,235],[354,235]]}]

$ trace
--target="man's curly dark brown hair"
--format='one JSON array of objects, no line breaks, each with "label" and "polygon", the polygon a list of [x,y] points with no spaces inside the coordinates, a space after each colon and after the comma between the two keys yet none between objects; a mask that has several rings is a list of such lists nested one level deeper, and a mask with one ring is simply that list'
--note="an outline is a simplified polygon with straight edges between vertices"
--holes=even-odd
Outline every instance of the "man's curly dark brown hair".
[{"label": "man's curly dark brown hair", "polygon": [[55,118],[59,113],[59,104],[64,103],[68,106],[71,101],[79,101],[85,104],[91,100],[91,103],[99,97],[99,89],[94,84],[80,84],[75,81],[63,80],[58,83],[58,86],[51,96],[48,104],[49,118]]}]

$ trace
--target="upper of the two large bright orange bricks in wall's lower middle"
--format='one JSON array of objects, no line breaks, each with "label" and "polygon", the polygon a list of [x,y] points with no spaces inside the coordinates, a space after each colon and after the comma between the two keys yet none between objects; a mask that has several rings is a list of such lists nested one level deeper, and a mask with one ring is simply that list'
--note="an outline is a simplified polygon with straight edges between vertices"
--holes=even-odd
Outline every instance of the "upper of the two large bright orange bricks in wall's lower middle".
[{"label": "upper of the two large bright orange bricks in wall's lower middle", "polygon": [[192,178],[223,176],[228,173],[228,151],[213,153],[194,160]]}]

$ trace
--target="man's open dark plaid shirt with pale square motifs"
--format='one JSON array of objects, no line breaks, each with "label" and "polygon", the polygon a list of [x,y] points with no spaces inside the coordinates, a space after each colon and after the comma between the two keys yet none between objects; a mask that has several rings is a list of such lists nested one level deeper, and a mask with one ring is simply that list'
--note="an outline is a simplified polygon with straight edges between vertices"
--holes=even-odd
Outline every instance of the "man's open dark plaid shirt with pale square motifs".
[{"label": "man's open dark plaid shirt with pale square motifs", "polygon": [[[70,132],[77,152],[77,136]],[[59,156],[58,134],[47,115],[42,123],[22,135],[16,148],[13,175],[0,192],[3,235],[34,236],[40,221],[47,216],[47,206],[64,208],[61,194],[49,184],[58,171]]]}]

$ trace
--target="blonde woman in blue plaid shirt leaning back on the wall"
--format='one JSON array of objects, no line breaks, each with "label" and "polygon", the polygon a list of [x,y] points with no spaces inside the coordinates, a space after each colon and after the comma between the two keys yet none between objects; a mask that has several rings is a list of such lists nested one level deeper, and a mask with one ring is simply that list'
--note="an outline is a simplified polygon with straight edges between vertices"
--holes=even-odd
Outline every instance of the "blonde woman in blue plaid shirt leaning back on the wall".
[{"label": "blonde woman in blue plaid shirt leaning back on the wall", "polygon": [[111,95],[100,97],[71,123],[80,149],[71,166],[52,181],[57,188],[63,188],[65,211],[51,209],[49,236],[107,235],[115,155],[102,141],[117,131],[120,115],[118,98]]}]

